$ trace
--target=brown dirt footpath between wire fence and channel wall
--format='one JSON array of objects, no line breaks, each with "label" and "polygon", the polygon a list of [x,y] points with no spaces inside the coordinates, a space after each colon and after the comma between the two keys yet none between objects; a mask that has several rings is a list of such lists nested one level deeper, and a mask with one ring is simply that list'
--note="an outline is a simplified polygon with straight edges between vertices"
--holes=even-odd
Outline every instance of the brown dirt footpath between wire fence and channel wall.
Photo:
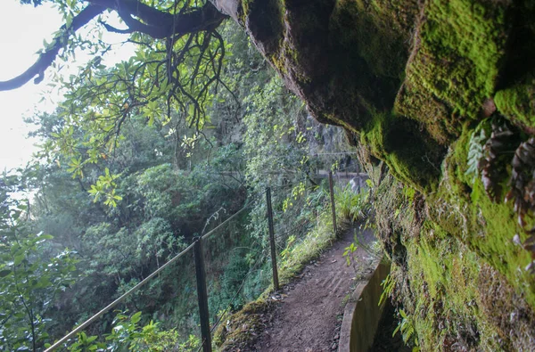
[{"label": "brown dirt footpath between wire fence and channel wall", "polygon": [[[351,288],[372,274],[369,254],[362,248],[354,253],[356,266],[347,266],[343,251],[353,241],[353,229],[334,242],[317,261],[306,266],[300,278],[273,296],[276,307],[268,328],[254,346],[241,351],[333,351],[338,348],[343,308]],[[358,234],[370,243],[370,231]],[[357,270],[356,270],[356,269]]]}]

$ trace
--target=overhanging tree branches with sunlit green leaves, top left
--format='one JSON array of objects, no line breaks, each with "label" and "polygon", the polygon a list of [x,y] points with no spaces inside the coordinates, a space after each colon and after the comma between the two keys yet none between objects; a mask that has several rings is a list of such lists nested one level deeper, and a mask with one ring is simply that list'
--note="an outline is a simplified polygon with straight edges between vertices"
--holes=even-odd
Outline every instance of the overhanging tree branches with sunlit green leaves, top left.
[{"label": "overhanging tree branches with sunlit green leaves, top left", "polygon": [[[221,90],[236,99],[222,71],[230,47],[221,36],[228,18],[210,1],[63,1],[21,0],[22,4],[53,4],[64,24],[51,43],[39,53],[28,70],[0,82],[0,90],[20,87],[33,79],[54,73],[51,83],[63,94],[57,110],[62,126],[45,145],[51,160],[57,153],[68,157],[70,172],[83,176],[87,164],[105,160],[118,146],[125,121],[143,116],[148,125],[155,119],[168,125],[175,119],[195,132],[181,135],[180,143],[191,145],[210,125],[207,110]],[[120,29],[109,22],[119,22]],[[83,30],[82,30],[83,29]],[[113,67],[102,63],[111,45],[103,32],[125,34],[125,42],[136,45],[127,60]],[[83,32],[83,33],[81,33]],[[36,34],[37,35],[37,34]],[[55,75],[66,62],[83,50],[91,60],[78,74]],[[172,116],[174,115],[174,116]],[[177,132],[177,128],[171,129]],[[83,135],[75,141],[74,135]],[[75,145],[76,144],[76,145]],[[114,204],[113,176],[103,173],[94,185],[96,197]]]}]

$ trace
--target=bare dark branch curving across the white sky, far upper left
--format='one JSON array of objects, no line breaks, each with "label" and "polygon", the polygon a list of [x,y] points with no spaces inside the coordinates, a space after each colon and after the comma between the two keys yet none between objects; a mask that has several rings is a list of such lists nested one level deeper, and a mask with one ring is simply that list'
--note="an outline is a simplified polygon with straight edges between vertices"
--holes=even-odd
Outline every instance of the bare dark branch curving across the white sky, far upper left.
[{"label": "bare dark branch curving across the white sky, far upper left", "polygon": [[28,70],[21,73],[21,75],[7,81],[0,81],[0,91],[11,90],[19,88],[29,82],[31,78],[36,77],[34,82],[40,83],[43,80],[43,73],[52,65],[60,50],[67,45],[67,38],[70,33],[76,32],[78,29],[84,27],[87,22],[93,20],[97,15],[102,13],[105,9],[102,6],[90,4],[84,10],[78,13],[72,20],[70,27],[63,25],[60,29],[61,33],[53,39],[53,45],[47,49],[45,53],[41,53],[37,61],[29,67]]}]

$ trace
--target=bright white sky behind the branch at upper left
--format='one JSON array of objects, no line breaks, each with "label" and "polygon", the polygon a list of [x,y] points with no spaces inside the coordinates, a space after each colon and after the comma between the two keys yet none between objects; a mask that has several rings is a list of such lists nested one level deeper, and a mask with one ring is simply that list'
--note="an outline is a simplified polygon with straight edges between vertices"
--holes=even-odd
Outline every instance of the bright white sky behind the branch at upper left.
[{"label": "bright white sky behind the branch at upper left", "polygon": [[[34,8],[19,4],[19,0],[0,0],[0,80],[16,77],[28,69],[37,60],[36,53],[43,48],[43,40],[50,43],[52,33],[62,26],[61,20],[57,10],[49,5]],[[111,24],[122,27],[116,21]],[[121,39],[124,37],[119,35],[104,37],[109,43],[119,43]],[[108,55],[108,64],[127,58],[133,52],[131,45],[114,45],[114,48],[119,53]],[[80,57],[83,60],[83,55],[77,54],[77,58]],[[58,96],[45,94],[46,102],[39,103],[47,89],[47,78],[51,76],[52,69],[45,71],[45,80],[39,85],[31,80],[19,89],[0,92],[0,173],[25,165],[37,150],[34,146],[37,141],[27,138],[31,127],[22,119],[37,111],[53,111],[50,99],[57,102]]]}]

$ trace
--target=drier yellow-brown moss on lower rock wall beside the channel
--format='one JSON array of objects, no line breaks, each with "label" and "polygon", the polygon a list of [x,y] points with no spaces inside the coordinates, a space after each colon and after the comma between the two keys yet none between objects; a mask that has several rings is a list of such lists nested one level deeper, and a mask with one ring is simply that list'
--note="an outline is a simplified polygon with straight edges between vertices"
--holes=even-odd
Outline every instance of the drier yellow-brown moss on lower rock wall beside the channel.
[{"label": "drier yellow-brown moss on lower rock wall beside the channel", "polygon": [[[394,297],[415,324],[422,350],[457,346],[499,351],[530,346],[535,332],[531,305],[459,235],[465,233],[464,226],[470,226],[470,215],[451,202],[427,200],[433,208],[448,207],[442,213],[456,219],[451,225],[457,224],[454,233],[458,236],[453,236],[442,221],[422,220],[418,193],[392,182],[389,176],[374,193],[378,227],[382,233],[390,232],[383,237],[385,246],[401,246],[403,250],[397,253],[405,253],[394,260],[392,275],[398,282]],[[400,243],[388,244],[394,238]]]}]

